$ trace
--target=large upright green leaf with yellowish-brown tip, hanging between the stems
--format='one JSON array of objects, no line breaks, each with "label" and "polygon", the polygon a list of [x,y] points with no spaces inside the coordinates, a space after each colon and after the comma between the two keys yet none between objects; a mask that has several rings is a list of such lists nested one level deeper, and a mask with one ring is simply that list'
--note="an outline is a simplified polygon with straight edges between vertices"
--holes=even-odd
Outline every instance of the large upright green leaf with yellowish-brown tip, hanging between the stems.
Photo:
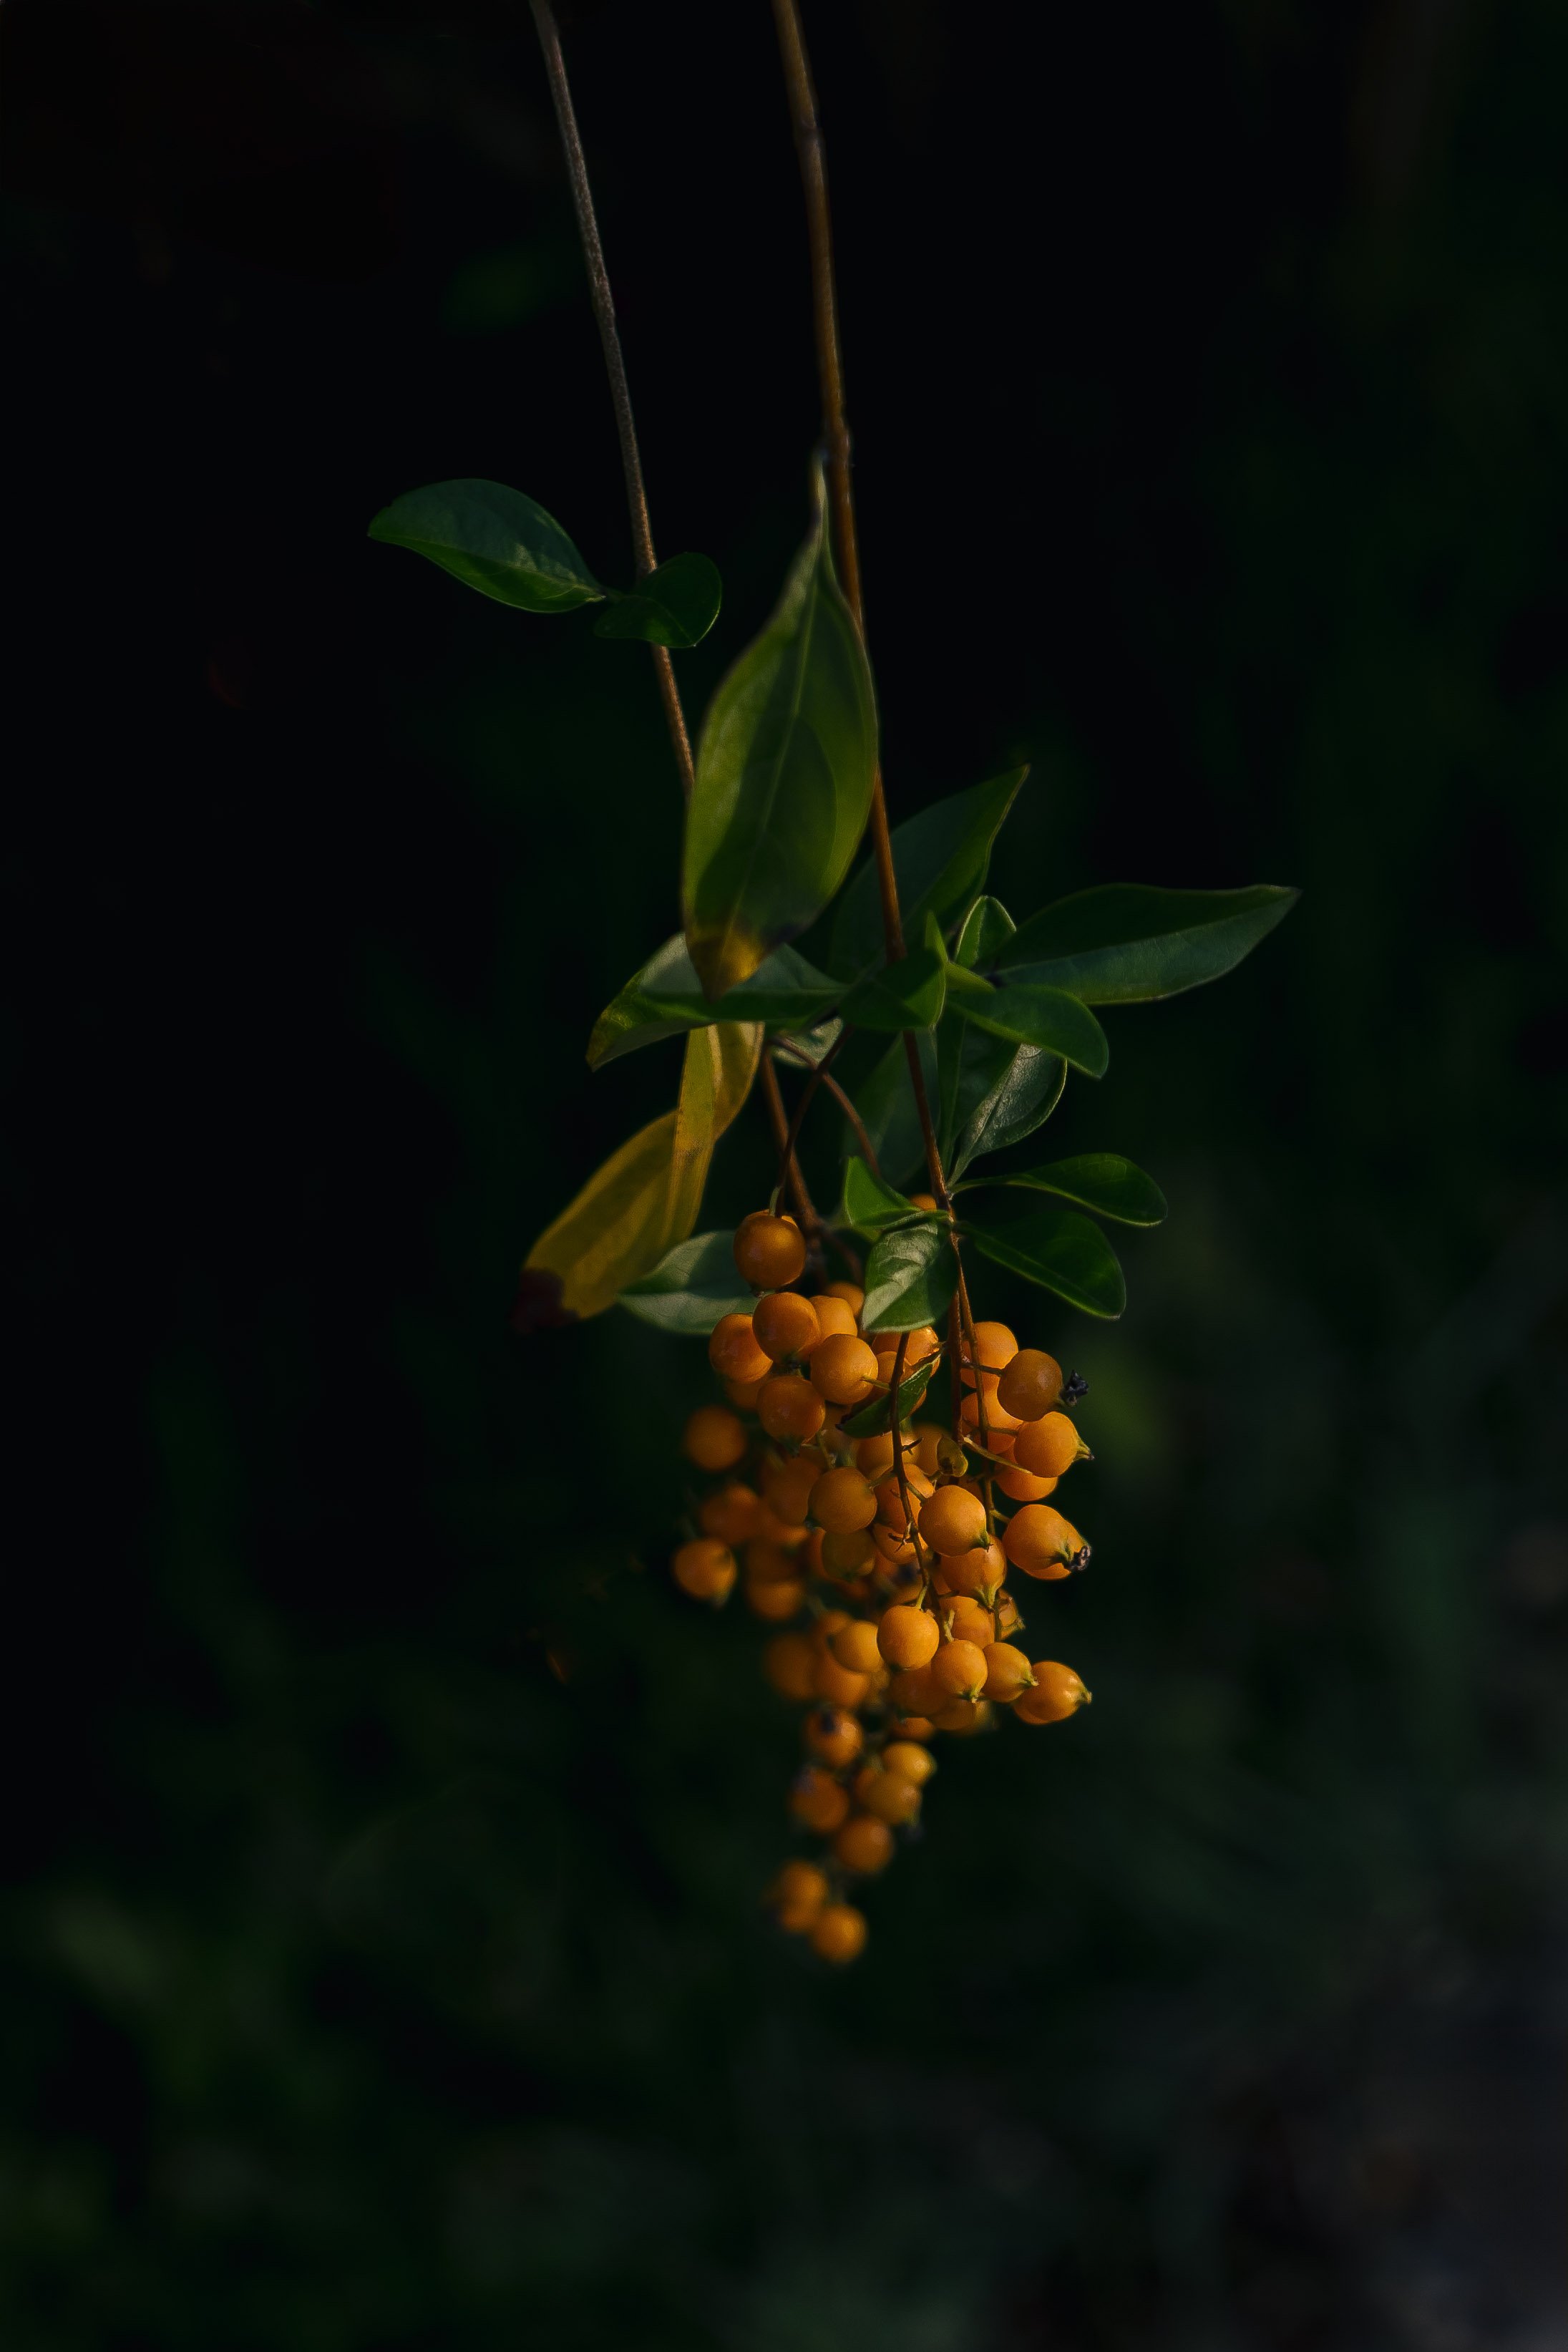
[{"label": "large upright green leaf with yellowish-brown tip, hanging between the stems", "polygon": [[722,680],[686,811],[686,946],[710,997],[804,931],[849,873],[877,771],[877,703],[823,513],[762,635]]}]

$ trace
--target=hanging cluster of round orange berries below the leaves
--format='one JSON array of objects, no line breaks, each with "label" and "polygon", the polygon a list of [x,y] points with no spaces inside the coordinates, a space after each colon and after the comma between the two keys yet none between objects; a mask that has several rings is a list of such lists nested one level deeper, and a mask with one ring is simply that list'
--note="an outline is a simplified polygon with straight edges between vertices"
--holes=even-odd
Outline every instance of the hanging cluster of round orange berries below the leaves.
[{"label": "hanging cluster of round orange berries below the leaves", "polygon": [[[1060,1411],[1084,1383],[1063,1383],[1056,1357],[1020,1348],[1006,1324],[973,1322],[959,1331],[954,1435],[900,1425],[886,1399],[896,1381],[936,1371],[931,1327],[865,1336],[853,1282],[795,1289],[806,1244],[788,1216],[748,1216],[736,1265],[764,1296],[750,1315],[724,1315],[708,1343],[726,1404],[686,1423],[686,1458],[710,1486],[693,1510],[701,1534],[672,1569],[712,1604],[741,1578],[752,1611],[788,1628],[764,1663],[773,1689],[811,1710],[790,1806],[827,1844],[820,1863],[783,1867],[773,1907],[846,1962],[865,1917],[844,1886],[884,1870],[893,1830],[917,1820],[933,1733],[978,1731],[999,1705],[1056,1724],[1088,1698],[1072,1668],[1018,1646],[1006,1590],[1009,1566],[1048,1581],[1088,1564],[1077,1526],[1046,1503],[1088,1456]],[[851,1435],[844,1423],[877,1402],[886,1428]],[[999,1494],[1016,1505],[1009,1517]]]}]

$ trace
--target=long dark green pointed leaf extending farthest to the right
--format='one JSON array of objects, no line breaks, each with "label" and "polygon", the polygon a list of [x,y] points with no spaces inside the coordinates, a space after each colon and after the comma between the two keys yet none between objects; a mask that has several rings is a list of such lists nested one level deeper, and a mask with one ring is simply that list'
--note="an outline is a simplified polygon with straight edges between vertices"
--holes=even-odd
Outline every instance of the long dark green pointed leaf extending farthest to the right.
[{"label": "long dark green pointed leaf extending farthest to the right", "polygon": [[1218,981],[1300,891],[1147,889],[1110,882],[1030,915],[999,955],[1009,978],[1067,988],[1084,1004],[1147,1004]]}]

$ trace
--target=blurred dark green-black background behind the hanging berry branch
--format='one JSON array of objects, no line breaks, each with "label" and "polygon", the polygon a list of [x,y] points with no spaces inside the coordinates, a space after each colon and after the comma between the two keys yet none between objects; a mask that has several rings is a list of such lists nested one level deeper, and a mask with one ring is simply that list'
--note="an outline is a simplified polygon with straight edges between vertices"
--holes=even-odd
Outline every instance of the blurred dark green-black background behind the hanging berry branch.
[{"label": "blurred dark green-black background behind the hanging berry branch", "polygon": [[[564,31],[698,710],[816,430],[771,21]],[[498,475],[630,574],[522,0],[7,0],[7,2352],[1568,2343],[1568,19],[809,31],[896,814],[1305,889],[1058,1115],[1171,1195],[1126,1319],[985,1289],[1093,1383],[1093,1715],[780,1943],[701,1350],[508,1334],[679,826],[639,649],[364,541]]]}]

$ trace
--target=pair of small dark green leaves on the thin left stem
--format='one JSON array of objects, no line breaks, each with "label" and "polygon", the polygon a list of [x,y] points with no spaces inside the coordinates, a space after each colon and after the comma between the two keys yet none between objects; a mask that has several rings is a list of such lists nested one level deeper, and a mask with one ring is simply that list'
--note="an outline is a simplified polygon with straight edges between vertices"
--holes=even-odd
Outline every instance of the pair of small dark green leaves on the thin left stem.
[{"label": "pair of small dark green leaves on the thin left stem", "polygon": [[599,637],[698,644],[719,616],[722,583],[705,555],[672,555],[628,595],[592,576],[555,515],[505,482],[430,482],[383,506],[371,539],[414,548],[468,588],[515,612],[604,604]]}]

